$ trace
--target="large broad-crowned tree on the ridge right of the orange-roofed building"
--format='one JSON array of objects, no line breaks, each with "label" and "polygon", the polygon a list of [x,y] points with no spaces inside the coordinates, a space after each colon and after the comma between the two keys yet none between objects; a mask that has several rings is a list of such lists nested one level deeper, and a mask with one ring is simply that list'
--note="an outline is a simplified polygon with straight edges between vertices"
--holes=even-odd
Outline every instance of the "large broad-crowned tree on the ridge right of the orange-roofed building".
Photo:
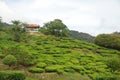
[{"label": "large broad-crowned tree on the ridge right of the orange-roofed building", "polygon": [[60,19],[45,23],[40,31],[55,36],[69,36],[69,29]]}]

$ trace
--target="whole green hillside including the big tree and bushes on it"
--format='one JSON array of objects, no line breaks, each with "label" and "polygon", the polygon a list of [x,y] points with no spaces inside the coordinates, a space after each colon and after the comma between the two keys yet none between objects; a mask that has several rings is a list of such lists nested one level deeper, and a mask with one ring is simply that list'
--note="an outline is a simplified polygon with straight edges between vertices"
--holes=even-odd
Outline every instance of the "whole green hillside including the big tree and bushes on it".
[{"label": "whole green hillside including the big tree and bushes on it", "polygon": [[59,19],[30,33],[12,22],[0,27],[0,80],[120,80],[119,37],[95,39],[114,50],[70,38]]}]

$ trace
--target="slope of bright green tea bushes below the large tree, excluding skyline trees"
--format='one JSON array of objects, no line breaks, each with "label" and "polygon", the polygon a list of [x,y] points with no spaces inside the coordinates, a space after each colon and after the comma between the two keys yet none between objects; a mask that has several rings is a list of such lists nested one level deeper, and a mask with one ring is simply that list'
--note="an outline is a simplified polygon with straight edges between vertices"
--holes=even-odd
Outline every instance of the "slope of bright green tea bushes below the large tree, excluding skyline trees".
[{"label": "slope of bright green tea bushes below the large tree, excluding skyline trees", "polygon": [[[28,40],[0,40],[0,58],[11,54],[20,60],[20,65],[12,68],[4,67],[0,62],[3,66],[0,70],[23,70],[28,80],[38,80],[42,74],[50,76],[53,73],[55,80],[117,80],[113,79],[115,74],[105,63],[106,59],[120,53],[117,50],[65,37],[30,35]],[[63,75],[65,79],[58,75]],[[45,78],[43,80],[54,80]]]}]

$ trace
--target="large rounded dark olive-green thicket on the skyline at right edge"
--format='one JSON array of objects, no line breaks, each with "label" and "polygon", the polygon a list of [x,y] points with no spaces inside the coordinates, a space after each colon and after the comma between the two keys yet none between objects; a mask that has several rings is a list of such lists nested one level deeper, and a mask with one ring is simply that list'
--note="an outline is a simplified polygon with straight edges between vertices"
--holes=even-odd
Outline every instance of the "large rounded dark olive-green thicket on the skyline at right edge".
[{"label": "large rounded dark olive-green thicket on the skyline at right edge", "polygon": [[120,50],[120,36],[117,34],[100,34],[94,42],[103,47]]}]

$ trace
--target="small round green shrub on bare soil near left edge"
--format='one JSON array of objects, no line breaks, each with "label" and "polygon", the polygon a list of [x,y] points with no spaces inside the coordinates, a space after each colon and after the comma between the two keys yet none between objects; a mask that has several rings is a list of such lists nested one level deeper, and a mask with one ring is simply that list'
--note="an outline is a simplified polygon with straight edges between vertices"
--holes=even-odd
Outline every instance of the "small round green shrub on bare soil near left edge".
[{"label": "small round green shrub on bare soil near left edge", "polygon": [[17,63],[16,58],[13,55],[7,55],[3,59],[3,63],[9,66],[15,65]]}]

